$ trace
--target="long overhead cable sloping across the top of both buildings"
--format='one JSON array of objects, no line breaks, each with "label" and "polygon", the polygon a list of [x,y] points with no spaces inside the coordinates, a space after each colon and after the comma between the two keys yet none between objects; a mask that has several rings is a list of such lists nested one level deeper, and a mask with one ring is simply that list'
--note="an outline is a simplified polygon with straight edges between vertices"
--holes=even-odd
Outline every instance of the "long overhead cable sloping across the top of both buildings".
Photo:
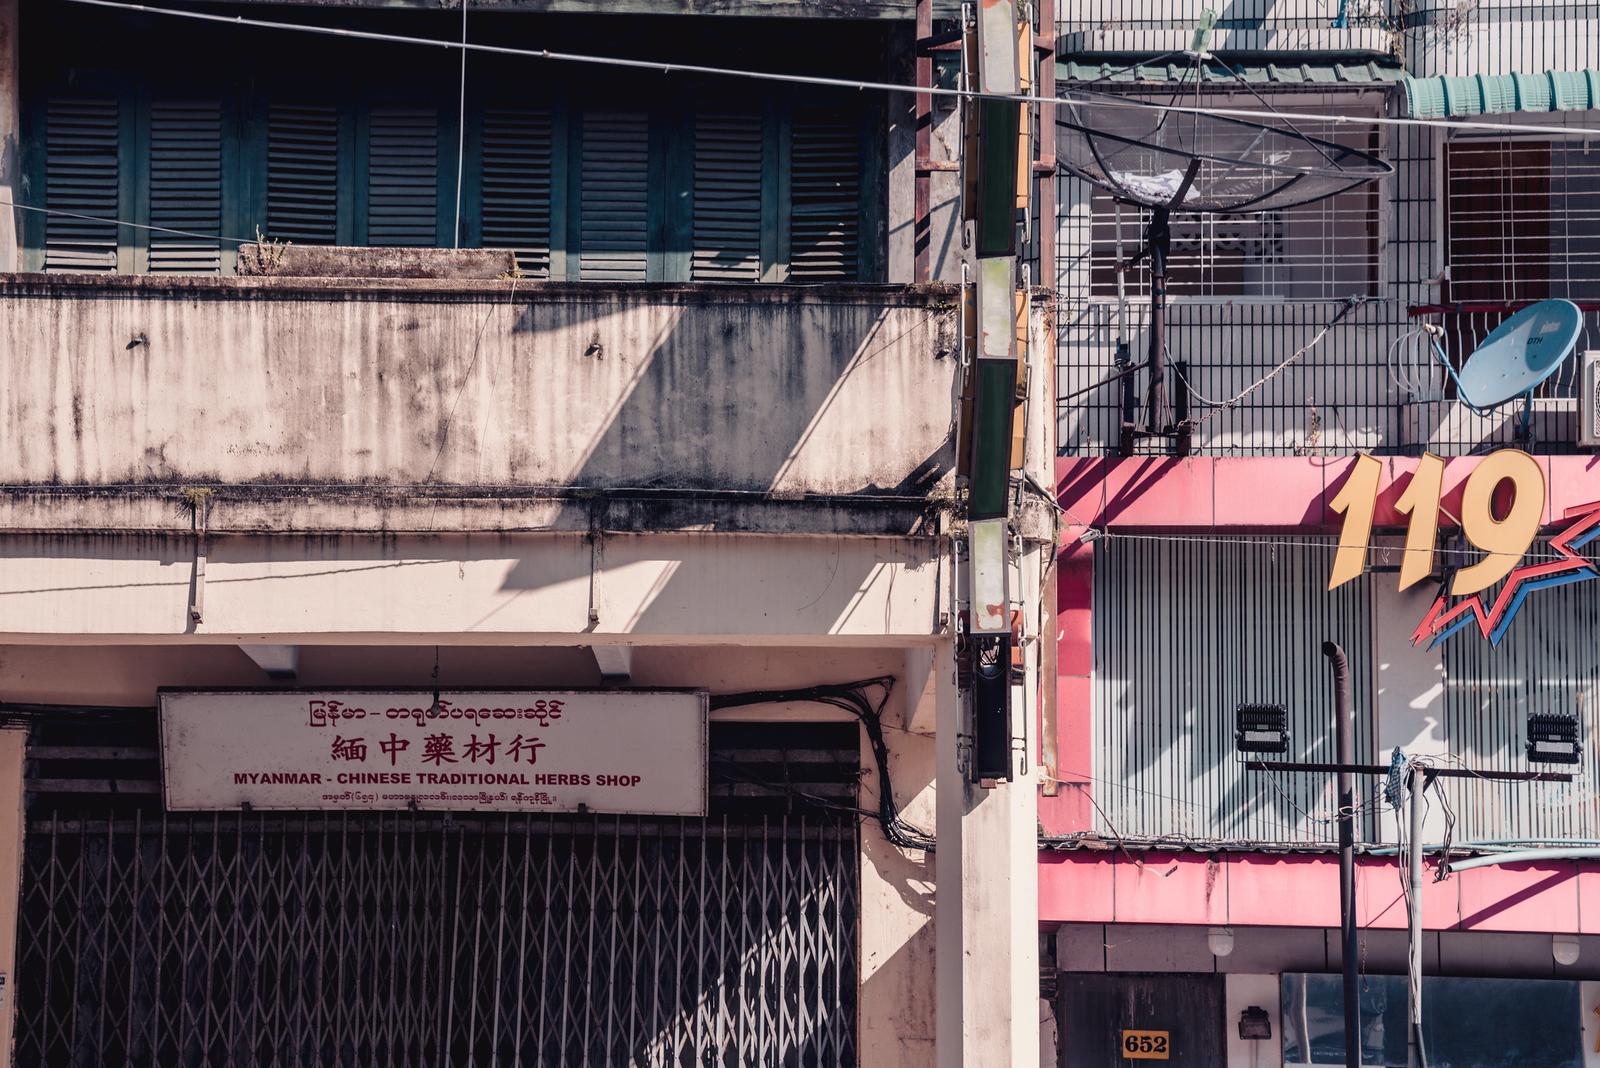
[{"label": "long overhead cable sloping across the top of both buildings", "polygon": [[1546,136],[1558,133],[1600,136],[1600,130],[1589,130],[1581,126],[1534,126],[1530,123],[1499,123],[1499,122],[1475,123],[1475,122],[1450,120],[1450,118],[1397,118],[1389,115],[1339,115],[1339,114],[1317,115],[1309,112],[1293,112],[1291,115],[1285,115],[1282,112],[1274,112],[1274,110],[1254,110],[1242,107],[1184,107],[1181,104],[1144,102],[1144,101],[1118,99],[1115,96],[1107,96],[1099,93],[1077,93],[1069,98],[1034,96],[1029,93],[979,93],[976,90],[901,85],[898,82],[835,78],[814,74],[781,74],[776,70],[746,70],[738,67],[710,67],[706,64],[685,64],[685,62],[670,62],[661,59],[626,59],[622,56],[594,56],[586,53],[554,51],[549,48],[515,48],[510,45],[485,45],[466,40],[461,42],[440,40],[437,37],[413,37],[406,34],[382,34],[378,30],[355,30],[338,26],[312,26],[307,22],[256,19],[243,14],[211,14],[208,11],[158,8],[146,3],[125,3],[123,0],[67,0],[67,2],[93,8],[138,11],[141,14],[162,14],[178,19],[190,19],[197,22],[219,22],[224,26],[248,26],[254,29],[291,30],[299,34],[317,34],[322,37],[342,37],[347,40],[368,40],[368,42],[382,42],[390,45],[418,45],[422,48],[464,50],[464,51],[475,51],[494,56],[522,56],[525,59],[546,59],[552,62],[574,62],[574,64],[589,64],[600,67],[627,67],[634,70],[654,70],[659,74],[704,74],[704,75],[717,75],[730,78],[754,78],[758,82],[786,82],[790,85],[819,85],[838,90],[859,90],[859,91],[872,90],[878,93],[982,98],[997,101],[1014,101],[1018,104],[1046,104],[1053,107],[1059,107],[1062,104],[1080,106],[1080,107],[1131,107],[1141,110],[1174,112],[1179,115],[1226,115],[1229,118],[1253,118],[1256,122],[1283,122],[1285,118],[1298,118],[1298,120],[1326,122],[1336,125],[1426,126],[1440,130],[1533,133]]}]

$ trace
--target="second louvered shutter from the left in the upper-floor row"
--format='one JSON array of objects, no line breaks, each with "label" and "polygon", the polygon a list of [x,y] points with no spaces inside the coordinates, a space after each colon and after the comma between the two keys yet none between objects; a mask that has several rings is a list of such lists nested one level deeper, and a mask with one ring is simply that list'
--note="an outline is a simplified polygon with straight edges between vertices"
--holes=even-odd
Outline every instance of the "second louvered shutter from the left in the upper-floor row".
[{"label": "second louvered shutter from the left in the upper-floor row", "polygon": [[222,106],[216,101],[150,104],[150,273],[221,273]]}]

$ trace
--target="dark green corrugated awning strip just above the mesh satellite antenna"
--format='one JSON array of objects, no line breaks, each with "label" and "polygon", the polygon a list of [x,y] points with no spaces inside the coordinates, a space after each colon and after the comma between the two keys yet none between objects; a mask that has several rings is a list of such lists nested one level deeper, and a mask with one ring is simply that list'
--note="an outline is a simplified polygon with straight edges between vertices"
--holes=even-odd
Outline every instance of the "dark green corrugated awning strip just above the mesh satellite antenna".
[{"label": "dark green corrugated awning strip just above the mesh satellite antenna", "polygon": [[[1202,67],[1208,85],[1237,82],[1229,67],[1251,85],[1347,85],[1390,86],[1405,77],[1398,62],[1360,54],[1290,54],[1229,56],[1218,53],[1219,62]],[[1226,64],[1226,66],[1224,66]],[[1099,82],[1101,85],[1171,85],[1194,82],[1192,62],[1141,64],[1139,56],[1069,56],[1056,62],[1056,80],[1062,83]]]}]

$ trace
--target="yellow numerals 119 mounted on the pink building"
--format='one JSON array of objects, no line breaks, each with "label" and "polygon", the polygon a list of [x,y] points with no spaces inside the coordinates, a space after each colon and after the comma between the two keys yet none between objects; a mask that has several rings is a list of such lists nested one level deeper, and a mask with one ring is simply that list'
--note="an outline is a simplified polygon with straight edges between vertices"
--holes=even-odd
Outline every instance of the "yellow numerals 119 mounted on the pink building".
[{"label": "yellow numerals 119 mounted on the pink building", "polygon": [[[1366,547],[1373,537],[1373,515],[1378,512],[1378,480],[1382,462],[1371,456],[1355,460],[1350,478],[1330,508],[1344,516],[1339,529],[1339,552],[1333,558],[1328,588],[1336,590],[1362,574]],[[1504,516],[1494,515],[1494,491],[1509,481],[1510,507]],[[1445,488],[1443,457],[1427,452],[1416,473],[1395,502],[1395,512],[1411,516],[1405,532],[1405,555],[1400,561],[1400,588],[1405,590],[1434,571],[1434,542],[1438,537],[1438,500]],[[1520,449],[1501,449],[1480,462],[1467,476],[1461,497],[1461,529],[1467,540],[1488,553],[1462,568],[1450,584],[1451,596],[1486,590],[1517,566],[1533,545],[1544,520],[1544,468]]]}]

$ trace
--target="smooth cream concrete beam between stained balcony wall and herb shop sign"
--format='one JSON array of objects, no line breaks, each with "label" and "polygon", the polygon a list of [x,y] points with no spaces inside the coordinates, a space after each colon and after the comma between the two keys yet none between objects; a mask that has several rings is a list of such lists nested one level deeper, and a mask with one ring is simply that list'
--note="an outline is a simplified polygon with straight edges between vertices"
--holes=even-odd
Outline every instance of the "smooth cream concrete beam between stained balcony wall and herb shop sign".
[{"label": "smooth cream concrete beam between stained balcony wall and herb shop sign", "polygon": [[0,537],[0,641],[931,644],[931,537]]}]

